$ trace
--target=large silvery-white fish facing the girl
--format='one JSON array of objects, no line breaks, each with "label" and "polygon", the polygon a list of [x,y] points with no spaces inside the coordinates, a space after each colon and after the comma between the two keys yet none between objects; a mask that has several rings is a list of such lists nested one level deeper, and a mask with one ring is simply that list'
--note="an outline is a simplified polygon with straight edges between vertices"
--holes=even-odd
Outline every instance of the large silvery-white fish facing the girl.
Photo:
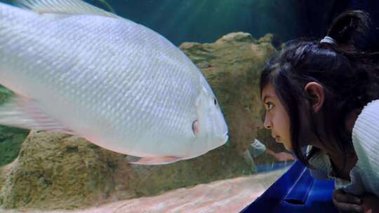
[{"label": "large silvery-white fish facing the girl", "polygon": [[0,4],[0,123],[79,135],[164,164],[227,141],[199,69],[163,36],[78,0]]}]

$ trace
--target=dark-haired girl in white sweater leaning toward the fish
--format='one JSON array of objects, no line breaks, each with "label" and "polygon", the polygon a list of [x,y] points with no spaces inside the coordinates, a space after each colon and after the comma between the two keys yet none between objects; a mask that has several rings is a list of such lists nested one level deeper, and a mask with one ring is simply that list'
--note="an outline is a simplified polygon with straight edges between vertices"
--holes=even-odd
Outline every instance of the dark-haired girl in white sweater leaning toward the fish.
[{"label": "dark-haired girl in white sweater leaning toward the fish", "polygon": [[369,26],[366,13],[343,13],[324,39],[291,44],[260,78],[265,128],[335,179],[333,202],[347,212],[379,212],[379,54],[367,48]]}]

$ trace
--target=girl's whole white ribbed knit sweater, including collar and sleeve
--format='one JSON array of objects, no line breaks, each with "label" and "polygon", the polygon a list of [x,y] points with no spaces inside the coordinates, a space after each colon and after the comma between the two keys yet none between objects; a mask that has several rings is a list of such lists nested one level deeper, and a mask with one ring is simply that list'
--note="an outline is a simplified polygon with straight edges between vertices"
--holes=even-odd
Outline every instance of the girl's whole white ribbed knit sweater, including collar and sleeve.
[{"label": "girl's whole white ribbed knit sweater, including collar and sleeve", "polygon": [[337,189],[343,188],[355,195],[370,192],[379,197],[379,99],[367,104],[359,114],[352,130],[352,143],[358,161],[350,171],[351,181],[333,177],[331,161],[323,151],[313,156],[310,164],[334,179]]}]

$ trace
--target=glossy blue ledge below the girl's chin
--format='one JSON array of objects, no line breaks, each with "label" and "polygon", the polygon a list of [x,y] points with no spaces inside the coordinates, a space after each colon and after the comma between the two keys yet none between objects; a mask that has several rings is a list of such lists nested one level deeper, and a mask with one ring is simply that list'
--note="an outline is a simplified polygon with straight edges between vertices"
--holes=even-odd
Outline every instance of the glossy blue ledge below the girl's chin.
[{"label": "glossy blue ledge below the girl's chin", "polygon": [[300,161],[241,213],[249,212],[338,212],[333,206],[334,182],[315,180]]}]

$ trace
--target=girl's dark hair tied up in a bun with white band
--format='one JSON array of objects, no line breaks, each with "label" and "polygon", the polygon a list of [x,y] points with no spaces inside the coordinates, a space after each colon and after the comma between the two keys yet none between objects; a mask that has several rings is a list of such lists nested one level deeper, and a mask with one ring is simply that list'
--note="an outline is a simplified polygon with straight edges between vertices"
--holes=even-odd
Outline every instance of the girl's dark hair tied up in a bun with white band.
[{"label": "girl's dark hair tied up in a bun with white band", "polygon": [[[364,51],[360,44],[369,42],[370,20],[363,11],[347,11],[339,15],[327,36],[335,43],[296,41],[273,57],[260,76],[260,91],[271,84],[290,118],[293,151],[302,163],[310,167],[309,158],[318,151],[312,149],[303,156],[299,142],[300,106],[310,128],[322,143],[333,143],[346,160],[347,146],[352,145],[351,132],[345,128],[345,118],[354,109],[364,107],[379,98],[378,54]],[[372,40],[371,40],[372,41]],[[317,129],[312,97],[304,90],[309,82],[324,87],[325,99],[321,107],[321,130]],[[321,138],[320,131],[324,133]]]}]

